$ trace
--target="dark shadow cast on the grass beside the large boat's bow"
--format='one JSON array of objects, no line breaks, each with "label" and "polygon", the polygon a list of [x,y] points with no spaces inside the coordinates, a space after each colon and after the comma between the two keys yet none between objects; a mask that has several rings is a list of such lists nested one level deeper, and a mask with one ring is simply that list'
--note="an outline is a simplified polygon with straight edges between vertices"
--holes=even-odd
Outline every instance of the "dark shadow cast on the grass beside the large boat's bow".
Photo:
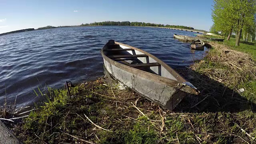
[{"label": "dark shadow cast on the grass beside the large boat's bow", "polygon": [[238,92],[224,86],[222,83],[198,74],[191,69],[177,69],[201,92],[198,96],[186,96],[174,109],[176,112],[255,112],[256,104],[244,98]]}]

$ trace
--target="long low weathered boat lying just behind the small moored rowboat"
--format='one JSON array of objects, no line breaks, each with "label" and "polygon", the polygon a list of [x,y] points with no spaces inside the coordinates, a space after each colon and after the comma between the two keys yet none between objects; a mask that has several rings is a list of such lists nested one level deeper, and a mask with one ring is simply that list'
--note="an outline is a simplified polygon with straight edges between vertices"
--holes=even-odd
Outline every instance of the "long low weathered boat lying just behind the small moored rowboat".
[{"label": "long low weathered boat lying just behind the small moored rowboat", "polygon": [[185,41],[185,42],[193,42],[195,40],[202,40],[205,42],[210,42],[210,41],[217,41],[217,42],[223,42],[224,39],[223,38],[206,38],[206,37],[192,37],[192,36],[182,36],[182,35],[177,35],[177,34],[173,34],[174,38],[177,38],[179,40]]}]

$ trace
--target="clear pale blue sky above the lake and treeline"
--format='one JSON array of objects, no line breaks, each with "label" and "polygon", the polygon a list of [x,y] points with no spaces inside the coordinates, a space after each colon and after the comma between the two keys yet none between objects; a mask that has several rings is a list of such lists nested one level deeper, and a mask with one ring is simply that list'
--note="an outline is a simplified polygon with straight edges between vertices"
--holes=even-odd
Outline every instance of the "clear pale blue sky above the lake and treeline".
[{"label": "clear pale blue sky above the lake and treeline", "polygon": [[0,33],[43,26],[139,21],[209,30],[213,0],[0,0]]}]

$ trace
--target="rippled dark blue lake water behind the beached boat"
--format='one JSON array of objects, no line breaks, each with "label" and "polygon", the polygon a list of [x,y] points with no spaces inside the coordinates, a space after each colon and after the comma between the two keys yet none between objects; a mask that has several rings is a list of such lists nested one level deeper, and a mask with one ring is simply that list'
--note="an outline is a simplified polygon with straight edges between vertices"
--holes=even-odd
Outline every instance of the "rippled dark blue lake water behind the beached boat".
[{"label": "rippled dark blue lake water behind the beached boat", "polygon": [[[64,87],[104,75],[102,46],[113,39],[149,52],[173,68],[204,57],[173,34],[193,32],[130,26],[88,26],[35,30],[0,36],[0,105],[17,95],[18,106],[38,100],[34,90]],[[42,85],[42,86],[41,86]],[[6,91],[6,92],[5,92]]]}]

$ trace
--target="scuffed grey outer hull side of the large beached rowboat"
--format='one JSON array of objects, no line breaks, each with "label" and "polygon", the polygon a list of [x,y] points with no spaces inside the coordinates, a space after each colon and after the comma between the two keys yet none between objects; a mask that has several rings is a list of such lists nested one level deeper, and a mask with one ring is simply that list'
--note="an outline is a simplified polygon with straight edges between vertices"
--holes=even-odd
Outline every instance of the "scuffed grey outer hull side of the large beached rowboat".
[{"label": "scuffed grey outer hull side of the large beached rowboat", "polygon": [[103,60],[106,70],[113,78],[168,110],[173,110],[187,94],[181,91],[179,86],[170,87],[170,85],[118,68],[114,63],[104,58]]}]

